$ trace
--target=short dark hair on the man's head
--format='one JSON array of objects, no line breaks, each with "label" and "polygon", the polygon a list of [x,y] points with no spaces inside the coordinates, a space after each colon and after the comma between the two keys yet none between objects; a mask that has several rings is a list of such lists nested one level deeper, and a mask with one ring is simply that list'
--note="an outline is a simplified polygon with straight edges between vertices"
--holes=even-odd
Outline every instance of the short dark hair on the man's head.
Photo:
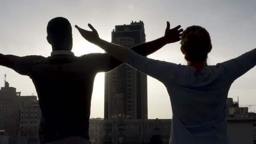
[{"label": "short dark hair on the man's head", "polygon": [[71,24],[63,17],[51,19],[47,25],[47,35],[56,41],[65,40],[72,36]]}]

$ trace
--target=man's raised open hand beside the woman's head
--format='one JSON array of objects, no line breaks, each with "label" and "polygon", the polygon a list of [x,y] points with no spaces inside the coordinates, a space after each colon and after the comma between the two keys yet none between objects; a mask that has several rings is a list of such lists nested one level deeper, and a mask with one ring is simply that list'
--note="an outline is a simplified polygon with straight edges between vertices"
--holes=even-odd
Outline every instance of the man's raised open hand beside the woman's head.
[{"label": "man's raised open hand beside the woman's head", "polygon": [[170,29],[170,23],[167,21],[167,27],[165,29],[165,42],[166,43],[175,43],[181,40],[181,32],[183,32],[183,29],[180,29],[181,26],[174,27],[173,29]]}]

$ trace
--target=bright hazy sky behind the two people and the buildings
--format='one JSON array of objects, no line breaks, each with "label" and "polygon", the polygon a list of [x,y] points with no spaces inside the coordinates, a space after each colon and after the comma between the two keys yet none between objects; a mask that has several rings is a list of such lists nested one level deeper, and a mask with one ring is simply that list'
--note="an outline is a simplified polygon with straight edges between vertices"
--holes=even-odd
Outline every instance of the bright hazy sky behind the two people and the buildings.
[{"label": "bright hazy sky behind the two people and the buildings", "polygon": [[[54,17],[67,18],[72,26],[86,28],[91,23],[102,39],[111,41],[115,25],[144,21],[147,41],[162,37],[166,21],[171,27],[205,27],[212,38],[213,50],[208,64],[235,58],[256,47],[256,0],[0,0],[0,53],[17,56],[50,56],[46,26]],[[73,52],[80,56],[103,52],[88,43],[73,28]],[[186,64],[179,43],[166,45],[150,58]],[[36,93],[32,80],[11,69],[0,67],[0,81],[21,91]],[[229,97],[240,104],[256,104],[256,68],[233,83]],[[2,76],[1,76],[2,75]],[[3,84],[0,84],[3,86]],[[256,109],[255,109],[256,110]],[[162,83],[148,77],[149,118],[171,118],[171,104]],[[96,76],[91,117],[104,117],[104,73]]]}]

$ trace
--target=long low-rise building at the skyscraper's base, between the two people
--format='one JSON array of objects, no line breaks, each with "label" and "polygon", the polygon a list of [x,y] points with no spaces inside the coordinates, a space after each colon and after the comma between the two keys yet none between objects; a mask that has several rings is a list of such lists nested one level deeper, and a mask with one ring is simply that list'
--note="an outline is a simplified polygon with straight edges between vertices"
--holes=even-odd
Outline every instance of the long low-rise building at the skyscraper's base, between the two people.
[{"label": "long low-rise building at the skyscraper's base, between the two people", "polygon": [[153,135],[160,135],[164,144],[169,143],[171,119],[104,120],[90,119],[92,144],[149,143]]}]

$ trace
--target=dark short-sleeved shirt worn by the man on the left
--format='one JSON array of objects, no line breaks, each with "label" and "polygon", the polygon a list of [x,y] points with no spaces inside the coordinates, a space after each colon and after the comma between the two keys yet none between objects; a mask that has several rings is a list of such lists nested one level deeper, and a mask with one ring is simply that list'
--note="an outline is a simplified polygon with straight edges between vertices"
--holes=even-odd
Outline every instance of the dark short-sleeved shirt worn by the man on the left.
[{"label": "dark short-sleeved shirt worn by the man on the left", "polygon": [[94,77],[122,64],[107,53],[74,56],[71,51],[54,51],[50,57],[24,56],[14,70],[28,75],[36,88],[42,118],[42,143],[82,136],[88,128]]}]

